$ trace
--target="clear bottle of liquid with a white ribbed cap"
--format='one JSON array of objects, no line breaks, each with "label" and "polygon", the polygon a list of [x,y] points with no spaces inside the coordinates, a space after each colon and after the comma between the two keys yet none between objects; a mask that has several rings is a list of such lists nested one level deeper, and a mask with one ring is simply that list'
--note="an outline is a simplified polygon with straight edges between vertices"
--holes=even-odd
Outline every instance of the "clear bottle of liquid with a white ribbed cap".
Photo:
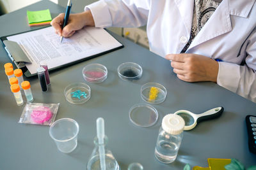
[{"label": "clear bottle of liquid with a white ribbed cap", "polygon": [[178,154],[185,122],[179,115],[164,116],[156,142],[156,158],[164,164],[172,163]]}]

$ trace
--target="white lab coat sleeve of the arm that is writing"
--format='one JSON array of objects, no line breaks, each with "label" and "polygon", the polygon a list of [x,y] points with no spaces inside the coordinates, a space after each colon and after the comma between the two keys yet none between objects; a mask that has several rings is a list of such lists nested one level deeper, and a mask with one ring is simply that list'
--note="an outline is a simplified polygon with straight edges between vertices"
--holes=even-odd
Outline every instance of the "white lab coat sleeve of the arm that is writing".
[{"label": "white lab coat sleeve of the arm that is writing", "polygon": [[95,27],[140,27],[148,9],[148,0],[100,0],[84,8],[92,11]]}]

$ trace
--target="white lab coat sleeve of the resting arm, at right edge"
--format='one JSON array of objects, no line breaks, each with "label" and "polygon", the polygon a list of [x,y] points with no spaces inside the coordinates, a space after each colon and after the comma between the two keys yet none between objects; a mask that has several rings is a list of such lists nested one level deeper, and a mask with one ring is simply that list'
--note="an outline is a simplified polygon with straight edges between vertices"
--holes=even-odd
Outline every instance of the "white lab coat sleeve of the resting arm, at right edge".
[{"label": "white lab coat sleeve of the resting arm, at right edge", "polygon": [[244,65],[219,62],[217,83],[256,103],[256,28],[244,44]]}]

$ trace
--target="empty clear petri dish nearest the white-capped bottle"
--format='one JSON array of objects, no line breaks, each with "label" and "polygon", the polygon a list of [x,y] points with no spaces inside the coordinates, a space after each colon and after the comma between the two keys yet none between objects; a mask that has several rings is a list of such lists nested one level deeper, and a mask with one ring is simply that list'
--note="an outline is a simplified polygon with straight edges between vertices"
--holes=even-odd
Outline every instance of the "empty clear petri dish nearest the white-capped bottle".
[{"label": "empty clear petri dish nearest the white-capped bottle", "polygon": [[129,110],[129,118],[134,125],[150,127],[156,124],[158,113],[150,104],[135,104]]}]

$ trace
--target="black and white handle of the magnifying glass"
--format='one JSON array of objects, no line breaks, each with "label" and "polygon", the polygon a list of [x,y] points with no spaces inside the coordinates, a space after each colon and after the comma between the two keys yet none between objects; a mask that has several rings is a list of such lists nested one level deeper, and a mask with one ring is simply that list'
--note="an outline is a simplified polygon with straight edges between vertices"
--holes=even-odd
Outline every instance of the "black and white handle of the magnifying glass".
[{"label": "black and white handle of the magnifying glass", "polygon": [[211,110],[205,111],[204,113],[197,115],[198,119],[196,122],[201,122],[202,120],[220,117],[223,111],[223,107],[213,108]]}]

